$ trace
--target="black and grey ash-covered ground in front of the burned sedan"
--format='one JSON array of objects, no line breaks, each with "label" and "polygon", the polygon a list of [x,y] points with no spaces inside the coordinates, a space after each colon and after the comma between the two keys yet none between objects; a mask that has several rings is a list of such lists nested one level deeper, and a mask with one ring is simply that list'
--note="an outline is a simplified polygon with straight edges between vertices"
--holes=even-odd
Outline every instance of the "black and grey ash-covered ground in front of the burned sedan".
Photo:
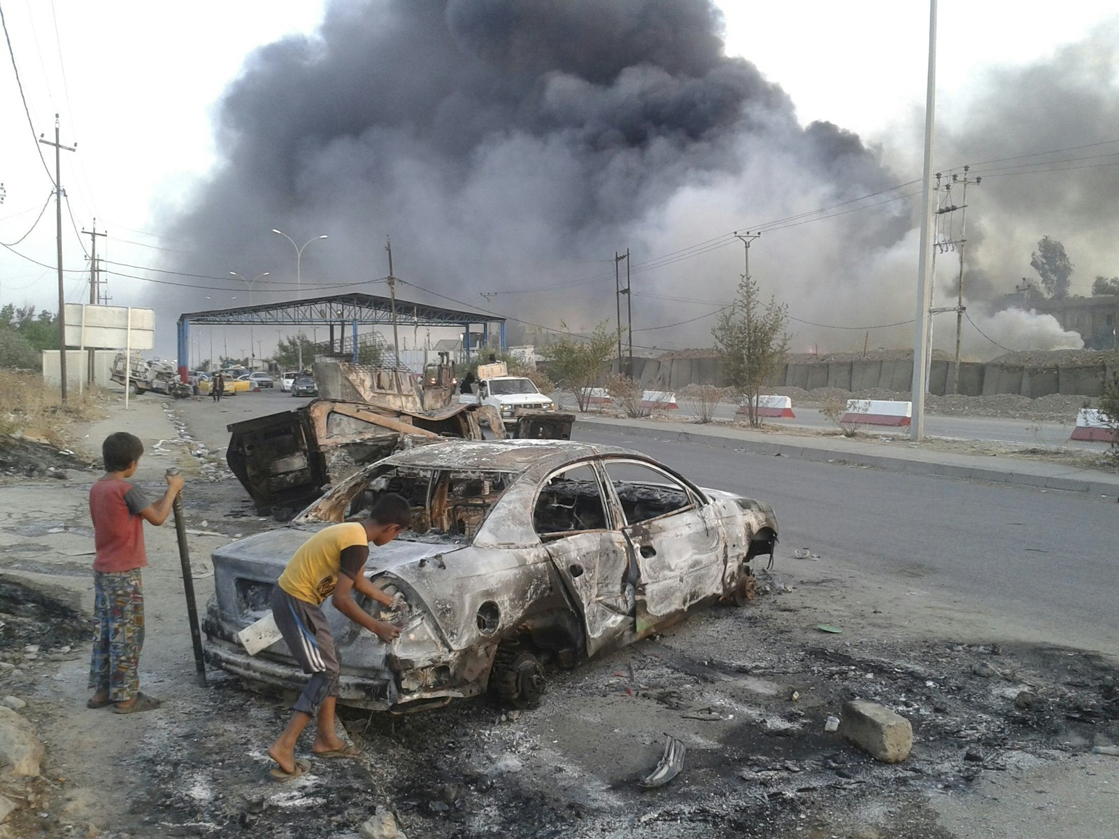
[{"label": "black and grey ash-covered ground in front of the burned sedan", "polygon": [[[778,620],[794,611],[780,601],[714,607],[656,640],[553,672],[535,710],[485,699],[405,716],[342,710],[367,757],[312,758],[311,773],[289,784],[269,779],[264,750],[290,701],[218,677],[190,707],[150,719],[130,767],[151,779],[132,832],[344,837],[387,804],[413,839],[927,839],[948,836],[930,827],[930,796],[967,794],[984,775],[1119,739],[1117,671],[1100,656],[850,641]],[[825,730],[855,697],[911,720],[909,761],[876,763]],[[642,791],[637,782],[666,734],[687,746],[684,772]],[[304,735],[300,756],[310,757],[309,746]]]}]

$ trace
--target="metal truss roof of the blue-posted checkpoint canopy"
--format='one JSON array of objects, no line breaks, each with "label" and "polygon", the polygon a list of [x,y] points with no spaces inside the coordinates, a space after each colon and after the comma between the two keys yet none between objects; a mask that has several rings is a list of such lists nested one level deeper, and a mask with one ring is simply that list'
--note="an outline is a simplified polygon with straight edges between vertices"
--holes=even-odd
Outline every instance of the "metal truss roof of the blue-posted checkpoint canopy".
[{"label": "metal truss roof of the blue-posted checkpoint canopy", "polygon": [[[410,327],[469,327],[474,323],[504,323],[485,312],[444,309],[407,300],[396,301],[396,320]],[[285,303],[262,303],[235,309],[215,309],[205,312],[186,312],[179,322],[199,326],[329,326],[357,323],[358,326],[391,324],[392,301],[376,294],[332,294]]]}]

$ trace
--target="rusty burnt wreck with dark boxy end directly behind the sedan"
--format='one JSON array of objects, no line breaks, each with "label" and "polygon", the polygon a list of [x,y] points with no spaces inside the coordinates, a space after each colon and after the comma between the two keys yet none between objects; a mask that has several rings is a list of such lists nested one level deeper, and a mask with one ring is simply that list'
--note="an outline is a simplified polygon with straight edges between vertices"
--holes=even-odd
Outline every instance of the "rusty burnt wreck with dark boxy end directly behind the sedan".
[{"label": "rusty burnt wreck with dark boxy end directly behind the sedan", "polygon": [[226,461],[260,515],[290,518],[322,494],[323,487],[404,445],[442,437],[481,440],[479,420],[490,413],[485,406],[452,405],[423,414],[316,399],[295,411],[227,426],[232,436]]}]

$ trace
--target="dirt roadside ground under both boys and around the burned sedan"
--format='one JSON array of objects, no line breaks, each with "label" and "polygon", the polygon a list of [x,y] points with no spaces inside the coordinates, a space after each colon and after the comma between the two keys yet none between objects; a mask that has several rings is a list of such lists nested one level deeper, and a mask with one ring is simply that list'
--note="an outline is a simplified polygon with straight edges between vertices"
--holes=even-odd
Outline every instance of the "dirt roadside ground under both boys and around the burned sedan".
[{"label": "dirt roadside ground under both boys and around the burned sedan", "polygon": [[[280,525],[253,515],[218,444],[168,406],[139,399],[128,426],[148,442],[141,486],[154,493],[168,465],[188,472],[201,605],[209,552]],[[83,433],[101,440],[120,422]],[[12,836],[349,839],[377,804],[413,839],[1094,839],[1119,823],[1119,758],[1089,751],[1119,742],[1115,660],[1016,637],[913,584],[867,586],[838,559],[790,557],[799,546],[782,548],[745,607],[700,610],[556,671],[538,709],[514,715],[479,699],[397,717],[347,711],[367,757],[313,761],[310,774],[276,784],[264,750],[288,704],[213,671],[197,685],[169,526],[147,532],[141,660],[145,688],[166,705],[129,717],[85,708],[95,477],[0,482],[3,692],[28,701],[21,713],[47,745]],[[912,722],[909,761],[876,763],[825,732],[854,697]],[[687,747],[684,772],[642,791],[666,735]],[[301,745],[305,755],[309,739]]]}]

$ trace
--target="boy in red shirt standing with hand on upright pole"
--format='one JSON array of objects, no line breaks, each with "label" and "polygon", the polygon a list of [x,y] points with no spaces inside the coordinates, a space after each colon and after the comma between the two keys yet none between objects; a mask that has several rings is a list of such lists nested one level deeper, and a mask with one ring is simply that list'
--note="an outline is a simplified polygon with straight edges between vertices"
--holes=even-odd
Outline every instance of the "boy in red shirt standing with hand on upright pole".
[{"label": "boy in red shirt standing with hand on upright pole", "polygon": [[167,477],[167,492],[151,503],[125,479],[140,465],[140,437],[119,431],[101,445],[105,474],[90,489],[97,556],[93,562],[94,620],[88,708],[114,706],[117,714],[158,708],[160,700],[140,691],[138,664],[143,647],[143,586],[140,569],[148,564],[143,522],[159,526],[182,489],[181,475]]}]

